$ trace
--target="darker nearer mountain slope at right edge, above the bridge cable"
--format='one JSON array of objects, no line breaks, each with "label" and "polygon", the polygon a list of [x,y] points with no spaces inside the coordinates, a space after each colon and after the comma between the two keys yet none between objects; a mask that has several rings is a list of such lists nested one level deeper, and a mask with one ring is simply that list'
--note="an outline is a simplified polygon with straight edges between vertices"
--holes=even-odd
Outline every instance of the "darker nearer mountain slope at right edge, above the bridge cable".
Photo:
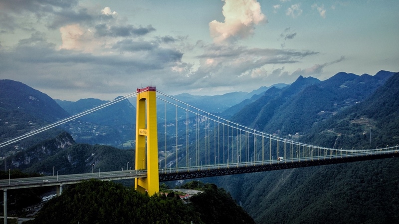
[{"label": "darker nearer mountain slope at right edge, above the bridge cable", "polygon": [[[315,126],[302,139],[327,147],[377,148],[399,144],[399,73],[365,101]],[[322,141],[323,140],[323,141]]]}]

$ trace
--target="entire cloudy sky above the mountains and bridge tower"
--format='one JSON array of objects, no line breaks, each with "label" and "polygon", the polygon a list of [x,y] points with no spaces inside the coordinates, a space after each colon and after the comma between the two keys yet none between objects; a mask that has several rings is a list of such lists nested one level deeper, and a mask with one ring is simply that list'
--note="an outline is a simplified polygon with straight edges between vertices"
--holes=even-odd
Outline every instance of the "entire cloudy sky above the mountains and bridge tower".
[{"label": "entire cloudy sky above the mountains and bridge tower", "polygon": [[54,99],[399,71],[398,0],[0,0],[0,79]]}]

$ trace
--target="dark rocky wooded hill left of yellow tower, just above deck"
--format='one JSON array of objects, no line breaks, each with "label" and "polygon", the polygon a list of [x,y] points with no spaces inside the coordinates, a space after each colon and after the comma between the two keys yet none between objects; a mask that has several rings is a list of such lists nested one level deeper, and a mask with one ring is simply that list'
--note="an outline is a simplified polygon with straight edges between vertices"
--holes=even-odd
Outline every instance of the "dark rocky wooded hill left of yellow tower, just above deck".
[{"label": "dark rocky wooded hill left of yellow tower, just above deck", "polygon": [[[94,169],[98,172],[118,171],[121,167],[134,169],[134,150],[122,150],[105,145],[77,144],[64,132],[56,138],[44,140],[26,150],[16,153],[1,161],[0,166],[7,164],[7,169],[18,169],[26,173],[53,175],[88,173]],[[54,168],[53,168],[54,167]],[[129,168],[130,169],[130,168]]]}]

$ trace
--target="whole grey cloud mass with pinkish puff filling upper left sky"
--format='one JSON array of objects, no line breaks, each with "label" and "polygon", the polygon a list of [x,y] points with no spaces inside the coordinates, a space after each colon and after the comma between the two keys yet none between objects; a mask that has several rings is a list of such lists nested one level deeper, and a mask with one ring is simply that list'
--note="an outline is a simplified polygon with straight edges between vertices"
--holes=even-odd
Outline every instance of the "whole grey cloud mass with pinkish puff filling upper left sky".
[{"label": "whole grey cloud mass with pinkish puff filling upper left sky", "polygon": [[[152,36],[156,29],[151,24],[131,24],[110,7],[56,3],[31,0],[18,8],[0,1],[0,12],[9,12],[0,13],[0,23],[12,24],[0,24],[0,32],[24,32],[11,44],[1,40],[1,78],[60,99],[113,99],[141,83],[162,86],[171,77],[178,83],[192,70],[192,64],[182,62],[183,50],[193,47],[187,36]],[[26,18],[33,18],[30,30]],[[31,35],[26,37],[27,32]]]}]

